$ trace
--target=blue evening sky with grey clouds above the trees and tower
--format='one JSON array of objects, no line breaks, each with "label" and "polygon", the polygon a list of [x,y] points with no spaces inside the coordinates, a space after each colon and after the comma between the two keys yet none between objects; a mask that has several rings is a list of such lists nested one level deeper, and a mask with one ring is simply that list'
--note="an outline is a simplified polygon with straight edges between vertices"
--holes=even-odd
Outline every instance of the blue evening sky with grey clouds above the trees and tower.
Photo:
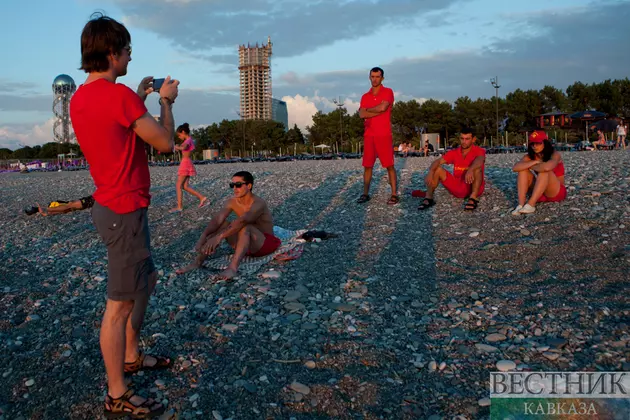
[{"label": "blue evening sky with grey clouds above the trees and tower", "polygon": [[80,36],[96,11],[131,33],[118,82],[180,80],[175,119],[191,127],[238,118],[238,46],[268,36],[273,96],[302,129],[333,99],[356,111],[374,66],[397,100],[418,101],[490,98],[495,76],[504,97],[630,73],[630,0],[12,1],[0,15],[0,147],[52,141],[52,82],[85,80]]}]

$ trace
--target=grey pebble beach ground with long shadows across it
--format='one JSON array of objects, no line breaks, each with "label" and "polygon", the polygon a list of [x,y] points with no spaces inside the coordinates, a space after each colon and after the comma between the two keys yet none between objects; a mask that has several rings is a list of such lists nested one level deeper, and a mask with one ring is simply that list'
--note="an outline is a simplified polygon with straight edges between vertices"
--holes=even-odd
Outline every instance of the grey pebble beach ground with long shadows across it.
[{"label": "grey pebble beach ground with long shadows across it", "polygon": [[[408,195],[387,206],[381,168],[372,201],[357,205],[360,161],[347,160],[198,166],[193,186],[213,205],[198,210],[185,196],[184,213],[172,215],[177,169],[152,168],[161,276],[144,337],[176,363],[136,375],[135,386],[180,418],[488,418],[479,401],[499,360],[629,370],[630,152],[563,157],[568,199],[520,218],[509,215],[520,155],[488,157],[474,214],[443,189],[428,212]],[[400,190],[422,186],[431,161],[397,159]],[[272,281],[212,284],[207,270],[175,277],[241,169],[254,173],[276,225],[339,238],[267,267],[282,272]],[[97,418],[105,248],[88,212],[20,214],[35,201],[90,194],[89,173],[5,174],[0,188],[0,418]],[[295,296],[303,307],[287,309]]]}]

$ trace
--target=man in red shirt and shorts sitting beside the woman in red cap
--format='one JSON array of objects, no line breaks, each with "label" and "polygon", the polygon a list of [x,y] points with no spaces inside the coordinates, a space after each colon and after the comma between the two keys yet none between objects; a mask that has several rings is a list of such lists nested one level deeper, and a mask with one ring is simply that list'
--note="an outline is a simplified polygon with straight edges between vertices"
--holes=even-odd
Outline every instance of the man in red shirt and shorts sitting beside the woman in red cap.
[{"label": "man in red shirt and shorts sitting beside the woman in red cap", "polygon": [[[425,178],[426,198],[422,200],[418,210],[435,205],[433,192],[439,183],[455,197],[466,199],[465,210],[472,211],[477,208],[485,186],[486,151],[475,144],[476,140],[472,130],[464,128],[459,134],[460,147],[448,151],[431,164],[429,174]],[[442,165],[453,165],[453,173],[442,168]]]}]

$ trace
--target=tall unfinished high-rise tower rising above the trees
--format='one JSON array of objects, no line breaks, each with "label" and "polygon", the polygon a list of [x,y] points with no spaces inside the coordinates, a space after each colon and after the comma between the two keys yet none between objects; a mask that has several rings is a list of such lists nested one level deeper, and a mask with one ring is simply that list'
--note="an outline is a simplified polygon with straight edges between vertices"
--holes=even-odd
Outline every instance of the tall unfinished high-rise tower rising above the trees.
[{"label": "tall unfinished high-rise tower rising above the trees", "polygon": [[238,47],[241,73],[241,118],[270,120],[271,114],[271,37],[262,46]]}]

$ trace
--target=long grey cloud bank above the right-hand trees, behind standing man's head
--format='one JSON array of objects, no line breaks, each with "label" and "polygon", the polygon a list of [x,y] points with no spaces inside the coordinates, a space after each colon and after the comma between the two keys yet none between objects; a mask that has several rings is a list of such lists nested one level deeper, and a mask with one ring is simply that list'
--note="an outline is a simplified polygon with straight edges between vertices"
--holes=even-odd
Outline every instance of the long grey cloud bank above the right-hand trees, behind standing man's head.
[{"label": "long grey cloud bank above the right-hand trees, behind standing man's head", "polygon": [[[495,91],[489,80],[494,76],[499,77],[500,96],[519,88],[551,85],[565,89],[576,81],[595,83],[628,77],[630,55],[625,51],[630,39],[630,2],[551,9],[513,19],[507,24],[527,31],[515,30],[509,39],[494,40],[482,48],[439,51],[384,63],[384,84],[396,92],[404,91],[405,96],[397,95],[397,100],[453,101],[460,96],[492,97]],[[317,89],[320,95],[334,97],[369,88],[364,69],[287,72],[280,81],[274,89],[277,86],[283,95],[290,96],[295,92],[308,96]]]}]

